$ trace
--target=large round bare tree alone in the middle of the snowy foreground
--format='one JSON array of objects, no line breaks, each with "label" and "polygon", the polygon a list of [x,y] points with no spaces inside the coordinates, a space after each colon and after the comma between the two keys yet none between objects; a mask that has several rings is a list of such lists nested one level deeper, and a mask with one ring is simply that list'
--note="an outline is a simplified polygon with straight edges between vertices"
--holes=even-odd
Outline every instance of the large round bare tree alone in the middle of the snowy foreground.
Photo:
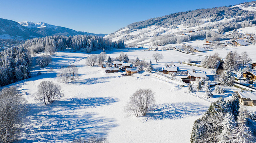
[{"label": "large round bare tree alone in the middle of the snowy foreground", "polygon": [[136,117],[139,115],[145,116],[148,110],[155,106],[155,96],[151,89],[139,89],[134,92],[125,110],[134,113]]}]

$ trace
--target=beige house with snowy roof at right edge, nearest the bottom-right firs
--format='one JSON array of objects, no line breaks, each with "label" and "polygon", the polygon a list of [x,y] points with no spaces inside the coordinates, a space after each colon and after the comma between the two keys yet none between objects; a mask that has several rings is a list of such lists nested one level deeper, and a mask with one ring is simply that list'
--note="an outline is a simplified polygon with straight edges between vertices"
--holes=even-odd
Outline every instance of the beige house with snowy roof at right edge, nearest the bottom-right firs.
[{"label": "beige house with snowy roof at right edge, nearest the bottom-right firs", "polygon": [[256,106],[256,92],[237,91],[239,103],[246,106]]}]

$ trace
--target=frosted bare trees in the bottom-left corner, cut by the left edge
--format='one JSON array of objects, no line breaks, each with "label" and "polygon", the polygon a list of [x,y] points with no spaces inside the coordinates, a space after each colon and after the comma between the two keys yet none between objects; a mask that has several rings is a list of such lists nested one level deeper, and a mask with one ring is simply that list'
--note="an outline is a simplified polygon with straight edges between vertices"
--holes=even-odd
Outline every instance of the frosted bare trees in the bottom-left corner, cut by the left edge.
[{"label": "frosted bare trees in the bottom-left corner, cut by the left edge", "polygon": [[26,100],[11,86],[0,92],[0,142],[9,143],[17,139],[19,125],[27,109]]}]

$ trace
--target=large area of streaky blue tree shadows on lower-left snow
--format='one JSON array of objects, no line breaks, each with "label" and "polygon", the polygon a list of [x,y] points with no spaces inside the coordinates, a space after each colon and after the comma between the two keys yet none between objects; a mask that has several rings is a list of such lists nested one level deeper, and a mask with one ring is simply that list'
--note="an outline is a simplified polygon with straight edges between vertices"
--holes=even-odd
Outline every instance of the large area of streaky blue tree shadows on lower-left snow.
[{"label": "large area of streaky blue tree shadows on lower-left snow", "polygon": [[117,101],[112,97],[72,98],[56,101],[52,106],[32,105],[24,120],[20,142],[70,142],[92,136],[105,137],[110,129],[118,126],[115,120],[83,112],[83,109]]}]

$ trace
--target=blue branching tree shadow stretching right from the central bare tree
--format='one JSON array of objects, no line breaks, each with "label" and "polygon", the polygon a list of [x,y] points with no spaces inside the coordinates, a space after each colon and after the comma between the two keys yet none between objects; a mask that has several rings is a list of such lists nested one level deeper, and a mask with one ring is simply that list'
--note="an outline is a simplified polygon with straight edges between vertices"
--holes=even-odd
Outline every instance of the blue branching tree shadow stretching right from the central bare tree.
[{"label": "blue branching tree shadow stretching right from the central bare tree", "polygon": [[147,113],[146,120],[179,119],[186,116],[198,116],[208,109],[200,103],[179,102],[157,105],[156,109]]}]

